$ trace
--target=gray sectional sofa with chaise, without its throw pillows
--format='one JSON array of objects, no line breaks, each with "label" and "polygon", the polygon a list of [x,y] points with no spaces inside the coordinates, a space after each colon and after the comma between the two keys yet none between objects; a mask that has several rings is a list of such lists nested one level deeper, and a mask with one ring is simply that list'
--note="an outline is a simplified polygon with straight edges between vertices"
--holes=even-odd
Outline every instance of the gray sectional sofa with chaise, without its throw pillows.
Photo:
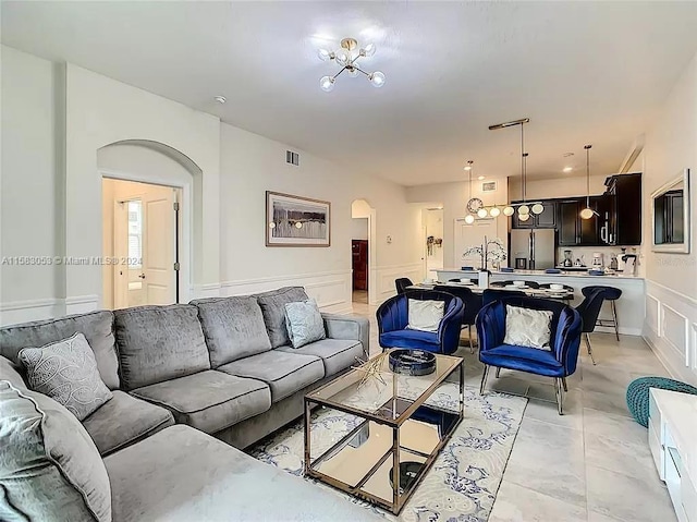
[{"label": "gray sectional sofa with chaise, without its throw pillows", "polygon": [[[290,287],[0,328],[0,380],[22,394],[21,349],[84,333],[113,393],[82,423],[109,475],[113,521],[370,520],[235,449],[301,416],[308,390],[367,355],[368,320],[352,316],[322,314],[327,338],[291,348],[284,304],[305,299]],[[0,487],[0,519],[8,498]]]}]

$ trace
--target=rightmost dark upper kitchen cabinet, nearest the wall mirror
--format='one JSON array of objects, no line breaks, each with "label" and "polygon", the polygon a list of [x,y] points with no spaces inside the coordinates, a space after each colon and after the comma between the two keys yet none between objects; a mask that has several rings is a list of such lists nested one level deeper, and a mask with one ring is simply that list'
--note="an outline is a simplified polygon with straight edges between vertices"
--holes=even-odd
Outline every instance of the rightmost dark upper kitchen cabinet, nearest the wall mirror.
[{"label": "rightmost dark upper kitchen cabinet, nearest the wall mirror", "polygon": [[616,174],[606,180],[610,199],[609,239],[614,245],[641,244],[641,173]]}]

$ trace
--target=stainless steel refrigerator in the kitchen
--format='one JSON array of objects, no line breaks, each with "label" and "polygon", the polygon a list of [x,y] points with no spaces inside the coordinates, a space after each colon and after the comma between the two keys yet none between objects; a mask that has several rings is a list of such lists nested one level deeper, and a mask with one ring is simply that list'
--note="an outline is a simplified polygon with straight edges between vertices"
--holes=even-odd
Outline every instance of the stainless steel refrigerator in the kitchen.
[{"label": "stainless steel refrigerator in the kitchen", "polygon": [[524,270],[545,270],[557,264],[554,229],[511,230],[509,266]]}]

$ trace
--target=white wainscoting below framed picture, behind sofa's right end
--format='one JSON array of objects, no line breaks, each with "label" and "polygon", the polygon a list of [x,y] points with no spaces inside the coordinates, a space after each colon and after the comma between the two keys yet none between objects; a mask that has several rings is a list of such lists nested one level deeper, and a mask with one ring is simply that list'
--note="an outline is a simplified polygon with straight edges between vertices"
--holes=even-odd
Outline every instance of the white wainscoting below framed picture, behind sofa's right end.
[{"label": "white wainscoting below framed picture, behind sofa's right end", "polygon": [[220,295],[248,295],[281,287],[304,287],[323,312],[344,314],[352,311],[351,275],[351,270],[334,270],[225,281],[220,284]]}]

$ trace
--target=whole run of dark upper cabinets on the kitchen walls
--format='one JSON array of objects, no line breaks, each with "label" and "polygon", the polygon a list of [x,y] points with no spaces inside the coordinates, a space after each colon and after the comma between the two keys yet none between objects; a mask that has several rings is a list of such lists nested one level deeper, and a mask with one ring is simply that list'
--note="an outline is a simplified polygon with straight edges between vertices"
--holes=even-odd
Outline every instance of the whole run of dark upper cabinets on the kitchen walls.
[{"label": "whole run of dark upper cabinets on the kitchen walls", "polygon": [[[559,246],[604,246],[641,244],[641,174],[616,174],[606,181],[607,192],[590,196],[590,219],[582,219],[586,197],[545,199],[545,211],[521,221],[514,214],[514,229],[557,229]],[[515,203],[515,202],[514,202]]]}]

